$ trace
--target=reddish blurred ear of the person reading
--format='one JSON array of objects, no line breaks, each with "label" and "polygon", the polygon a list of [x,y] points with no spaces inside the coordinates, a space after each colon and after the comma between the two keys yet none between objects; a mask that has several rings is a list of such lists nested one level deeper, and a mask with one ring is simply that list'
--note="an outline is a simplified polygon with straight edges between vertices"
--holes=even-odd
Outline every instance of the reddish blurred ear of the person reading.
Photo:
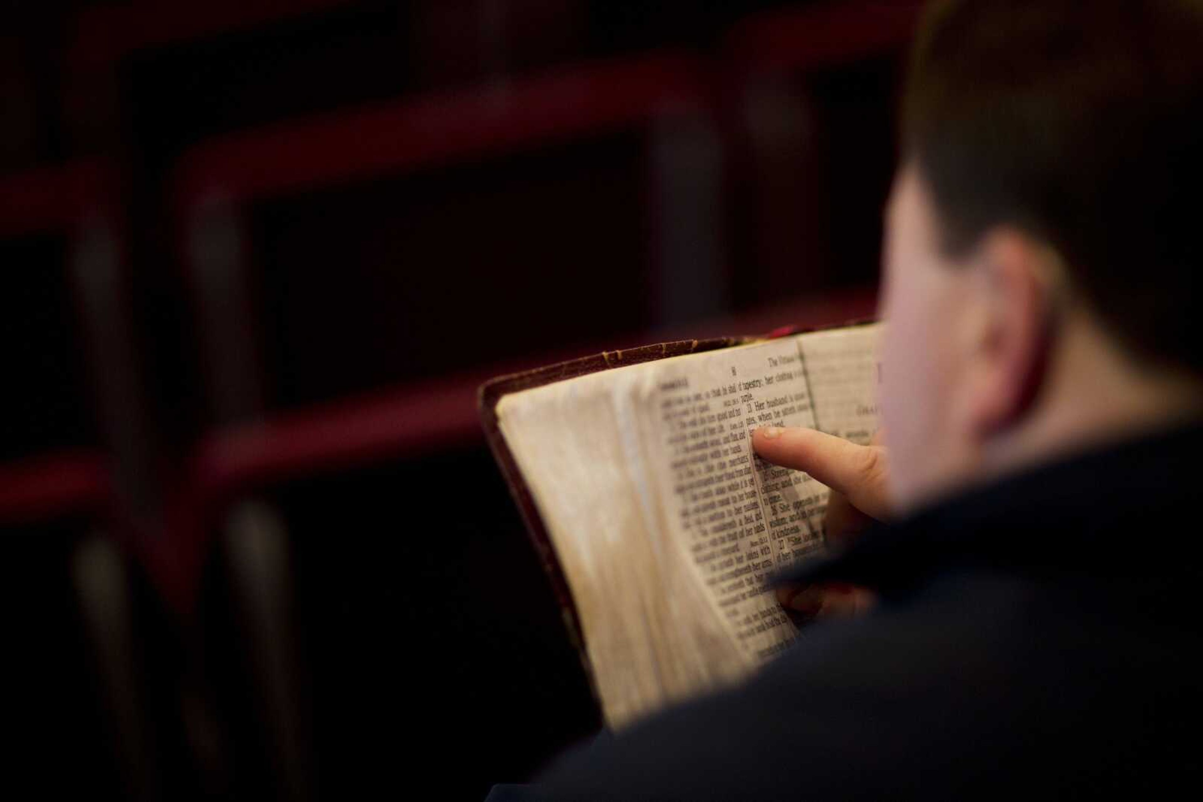
[{"label": "reddish blurred ear of the person reading", "polygon": [[1013,228],[983,239],[972,271],[962,346],[962,420],[984,440],[1021,421],[1044,381],[1049,350],[1051,251]]}]

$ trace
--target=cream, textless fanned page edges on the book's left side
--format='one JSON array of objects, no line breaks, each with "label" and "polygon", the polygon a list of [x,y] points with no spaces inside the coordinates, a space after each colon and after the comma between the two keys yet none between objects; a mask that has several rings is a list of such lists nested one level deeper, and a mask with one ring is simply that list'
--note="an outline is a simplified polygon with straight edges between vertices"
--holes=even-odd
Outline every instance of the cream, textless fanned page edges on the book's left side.
[{"label": "cream, textless fanned page edges on the book's left side", "polygon": [[[686,357],[682,357],[686,358]],[[656,363],[502,398],[498,424],[571,589],[608,724],[743,676],[665,513]]]}]

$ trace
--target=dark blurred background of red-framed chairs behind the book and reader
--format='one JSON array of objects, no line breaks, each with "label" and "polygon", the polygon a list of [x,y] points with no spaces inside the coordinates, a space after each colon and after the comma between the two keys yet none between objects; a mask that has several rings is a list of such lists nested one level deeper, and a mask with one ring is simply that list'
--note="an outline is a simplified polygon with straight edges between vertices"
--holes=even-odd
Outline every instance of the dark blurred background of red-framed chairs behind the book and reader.
[{"label": "dark blurred background of red-framed chairs behind the book and reader", "polygon": [[871,314],[917,4],[0,8],[8,782],[481,798],[594,733],[476,387]]}]

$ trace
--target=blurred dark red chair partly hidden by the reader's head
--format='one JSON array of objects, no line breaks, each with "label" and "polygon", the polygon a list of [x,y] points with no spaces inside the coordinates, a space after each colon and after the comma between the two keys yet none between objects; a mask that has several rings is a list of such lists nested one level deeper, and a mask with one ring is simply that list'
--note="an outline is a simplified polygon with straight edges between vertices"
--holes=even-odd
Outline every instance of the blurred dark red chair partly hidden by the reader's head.
[{"label": "blurred dark red chair partly hidden by the reader's head", "polygon": [[879,240],[866,232],[881,230],[899,59],[921,5],[826,1],[749,17],[725,36],[742,286],[876,281]]}]

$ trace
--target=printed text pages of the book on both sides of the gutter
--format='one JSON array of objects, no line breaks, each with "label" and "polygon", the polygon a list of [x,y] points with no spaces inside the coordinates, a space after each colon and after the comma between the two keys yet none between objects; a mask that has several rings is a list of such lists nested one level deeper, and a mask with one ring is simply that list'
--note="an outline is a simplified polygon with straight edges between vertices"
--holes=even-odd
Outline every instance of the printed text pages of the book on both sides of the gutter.
[{"label": "printed text pages of the book on both sides of the gutter", "polygon": [[755,456],[751,432],[805,426],[869,442],[879,332],[813,332],[658,363],[660,495],[675,504],[680,542],[753,661],[796,635],[768,580],[822,551],[829,491]]}]

